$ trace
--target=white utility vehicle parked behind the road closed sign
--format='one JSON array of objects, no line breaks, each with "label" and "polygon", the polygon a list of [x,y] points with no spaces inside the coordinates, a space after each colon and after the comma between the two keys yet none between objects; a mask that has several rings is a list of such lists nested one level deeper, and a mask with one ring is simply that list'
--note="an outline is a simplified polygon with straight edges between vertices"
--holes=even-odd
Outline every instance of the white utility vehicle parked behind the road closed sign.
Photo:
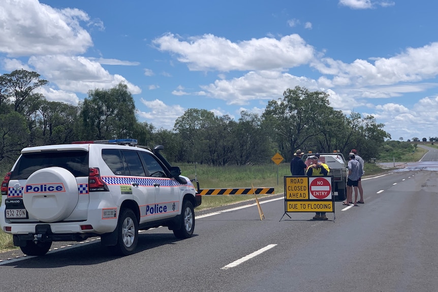
[{"label": "white utility vehicle parked behind the road closed sign", "polygon": [[[303,154],[302,159],[306,166],[311,164],[311,157],[316,153],[306,153]],[[342,201],[346,199],[347,195],[347,165],[346,160],[342,153],[340,152],[331,152],[331,153],[319,153],[319,160],[322,163],[325,163],[329,169],[329,175],[333,176],[333,191],[337,192],[335,194],[336,201]]]}]

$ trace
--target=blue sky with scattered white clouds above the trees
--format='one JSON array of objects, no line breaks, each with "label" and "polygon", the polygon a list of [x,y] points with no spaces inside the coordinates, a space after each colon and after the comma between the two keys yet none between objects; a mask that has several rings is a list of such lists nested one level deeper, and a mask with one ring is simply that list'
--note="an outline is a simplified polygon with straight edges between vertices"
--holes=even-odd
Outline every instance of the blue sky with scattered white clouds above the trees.
[{"label": "blue sky with scattered white clouds above the trees", "polygon": [[438,2],[2,0],[0,74],[36,71],[77,105],[119,82],[139,121],[172,129],[189,108],[262,114],[299,85],[392,140],[438,131]]}]

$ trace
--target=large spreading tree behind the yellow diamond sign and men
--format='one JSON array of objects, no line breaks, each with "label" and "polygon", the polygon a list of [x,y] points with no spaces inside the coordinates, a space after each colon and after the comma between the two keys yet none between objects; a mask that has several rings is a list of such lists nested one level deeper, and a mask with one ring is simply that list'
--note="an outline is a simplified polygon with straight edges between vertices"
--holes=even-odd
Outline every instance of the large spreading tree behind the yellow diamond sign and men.
[{"label": "large spreading tree behind the yellow diamond sign and men", "polygon": [[268,102],[262,117],[272,129],[272,139],[287,160],[295,149],[303,148],[324,129],[321,111],[329,107],[328,93],[288,88],[283,98]]}]

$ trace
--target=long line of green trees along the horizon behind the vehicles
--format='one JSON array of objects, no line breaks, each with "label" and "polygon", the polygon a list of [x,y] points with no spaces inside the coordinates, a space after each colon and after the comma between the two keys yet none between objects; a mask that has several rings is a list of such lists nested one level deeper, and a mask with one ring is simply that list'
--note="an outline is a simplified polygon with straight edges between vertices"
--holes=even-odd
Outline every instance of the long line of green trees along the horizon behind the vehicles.
[{"label": "long line of green trees along the horizon behind the vehicles", "polygon": [[82,140],[135,138],[140,145],[164,145],[171,162],[212,166],[286,161],[296,149],[344,154],[355,148],[368,160],[378,158],[390,135],[373,116],[335,111],[328,94],[300,86],[268,102],[262,115],[242,111],[236,121],[205,109],[187,109],[172,130],[139,122],[128,86],[93,89],[77,106],[48,101],[38,88],[49,81],[37,72],[16,70],[0,76],[0,161],[13,163],[27,146]]}]

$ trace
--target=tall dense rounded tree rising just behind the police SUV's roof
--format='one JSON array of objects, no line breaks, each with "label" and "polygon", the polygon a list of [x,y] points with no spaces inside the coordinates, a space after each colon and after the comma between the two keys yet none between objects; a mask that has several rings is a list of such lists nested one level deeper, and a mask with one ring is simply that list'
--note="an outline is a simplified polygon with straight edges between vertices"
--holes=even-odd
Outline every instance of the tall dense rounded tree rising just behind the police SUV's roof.
[{"label": "tall dense rounded tree rising just behind the police SUV's roof", "polygon": [[131,138],[137,123],[134,99],[124,83],[88,91],[80,115],[87,140]]}]

